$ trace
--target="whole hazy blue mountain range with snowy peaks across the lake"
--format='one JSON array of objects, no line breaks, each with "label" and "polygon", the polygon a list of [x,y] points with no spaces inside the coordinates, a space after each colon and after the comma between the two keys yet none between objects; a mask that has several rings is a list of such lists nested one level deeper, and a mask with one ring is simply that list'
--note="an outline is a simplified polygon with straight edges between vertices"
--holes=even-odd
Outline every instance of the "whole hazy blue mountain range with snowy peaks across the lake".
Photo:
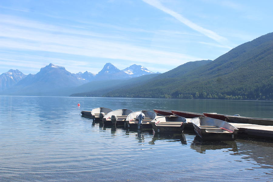
[{"label": "whole hazy blue mountain range with snowy peaks across the lake", "polygon": [[[5,95],[61,95],[65,96],[74,87],[91,81],[123,80],[138,75],[154,74],[143,66],[128,67],[130,74],[106,63],[98,74],[91,72],[70,73],[64,67],[50,63],[37,74],[24,75],[19,70],[9,70],[0,76],[1,94]],[[128,68],[126,70],[128,71]],[[143,70],[145,70],[143,72]],[[91,86],[92,87],[92,86]],[[63,88],[66,88],[65,90]],[[88,88],[86,88],[88,89]],[[89,90],[88,90],[89,91]],[[62,93],[63,92],[63,93]]]}]

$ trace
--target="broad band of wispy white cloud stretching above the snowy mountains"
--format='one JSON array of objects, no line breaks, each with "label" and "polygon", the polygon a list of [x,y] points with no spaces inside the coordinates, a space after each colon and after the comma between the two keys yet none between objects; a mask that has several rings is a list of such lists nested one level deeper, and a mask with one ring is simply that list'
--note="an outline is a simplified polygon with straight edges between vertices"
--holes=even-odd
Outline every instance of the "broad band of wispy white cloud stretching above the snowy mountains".
[{"label": "broad band of wispy white cloud stretching above the snowy mountains", "polygon": [[[82,29],[66,29],[27,19],[17,19],[17,17],[5,17],[6,19],[0,19],[0,48],[2,50],[44,51],[88,56],[93,59],[104,58],[132,61],[137,64],[172,64],[174,66],[201,59],[178,52],[162,51],[150,45],[137,46],[130,41],[122,41],[123,39],[119,39],[119,36],[115,39],[114,35],[92,33]],[[60,60],[58,62],[61,63]],[[66,62],[70,62],[66,64],[68,66],[73,65],[72,60],[68,59]],[[81,64],[80,61],[77,61],[77,64]]]}]

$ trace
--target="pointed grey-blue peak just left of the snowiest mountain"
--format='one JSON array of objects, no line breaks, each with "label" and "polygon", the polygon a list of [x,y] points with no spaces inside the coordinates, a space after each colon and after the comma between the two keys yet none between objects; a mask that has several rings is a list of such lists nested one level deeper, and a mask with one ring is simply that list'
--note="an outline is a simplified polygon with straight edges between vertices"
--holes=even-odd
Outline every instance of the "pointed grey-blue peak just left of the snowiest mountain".
[{"label": "pointed grey-blue peak just left of the snowiest mountain", "polygon": [[113,64],[106,63],[103,69],[96,75],[96,80],[128,79],[130,76],[118,69]]}]

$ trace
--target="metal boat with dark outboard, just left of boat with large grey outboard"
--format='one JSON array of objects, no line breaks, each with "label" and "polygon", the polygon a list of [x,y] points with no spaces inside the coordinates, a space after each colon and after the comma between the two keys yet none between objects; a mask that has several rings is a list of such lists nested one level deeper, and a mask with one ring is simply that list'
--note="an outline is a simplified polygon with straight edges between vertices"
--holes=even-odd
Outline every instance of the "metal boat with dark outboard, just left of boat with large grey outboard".
[{"label": "metal boat with dark outboard, just left of boat with large grey outboard", "polygon": [[125,120],[130,113],[133,113],[133,111],[129,109],[111,111],[103,117],[103,123],[105,125],[124,125]]}]

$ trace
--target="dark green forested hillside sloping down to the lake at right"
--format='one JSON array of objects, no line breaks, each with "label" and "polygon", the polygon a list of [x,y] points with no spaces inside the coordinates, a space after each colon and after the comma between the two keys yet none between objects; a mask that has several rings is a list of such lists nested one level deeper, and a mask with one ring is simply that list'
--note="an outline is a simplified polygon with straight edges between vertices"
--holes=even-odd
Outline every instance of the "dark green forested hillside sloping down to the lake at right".
[{"label": "dark green forested hillside sloping down to the lake at right", "polygon": [[273,33],[268,33],[200,67],[183,72],[181,65],[141,85],[115,89],[103,96],[273,99],[272,63]]}]

